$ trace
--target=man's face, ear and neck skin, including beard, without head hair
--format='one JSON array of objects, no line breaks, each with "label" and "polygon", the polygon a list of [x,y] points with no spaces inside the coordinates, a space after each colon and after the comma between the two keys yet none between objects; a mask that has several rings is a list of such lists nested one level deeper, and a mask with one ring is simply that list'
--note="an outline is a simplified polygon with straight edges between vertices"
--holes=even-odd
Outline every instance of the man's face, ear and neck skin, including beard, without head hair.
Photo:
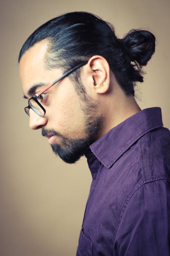
[{"label": "man's face, ear and neck skin, including beard, without head hair", "polygon": [[[20,60],[22,89],[27,98],[63,74],[59,69],[46,69],[47,48],[47,42],[42,40]],[[89,144],[140,111],[134,97],[124,94],[103,57],[92,56],[81,68],[80,75],[88,101],[82,100],[73,82],[65,77],[46,91],[44,117],[30,109],[30,128],[41,128],[55,154],[69,163],[77,161]],[[28,95],[28,90],[35,84],[44,85]]]}]

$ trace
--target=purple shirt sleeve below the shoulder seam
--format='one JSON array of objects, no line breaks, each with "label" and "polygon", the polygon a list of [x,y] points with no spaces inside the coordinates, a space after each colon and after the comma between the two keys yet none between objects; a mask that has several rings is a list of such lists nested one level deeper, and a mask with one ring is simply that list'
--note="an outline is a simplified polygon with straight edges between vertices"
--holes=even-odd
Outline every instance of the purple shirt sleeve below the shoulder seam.
[{"label": "purple shirt sleeve below the shoulder seam", "polygon": [[114,256],[170,255],[170,183],[147,183],[131,197],[120,221]]}]

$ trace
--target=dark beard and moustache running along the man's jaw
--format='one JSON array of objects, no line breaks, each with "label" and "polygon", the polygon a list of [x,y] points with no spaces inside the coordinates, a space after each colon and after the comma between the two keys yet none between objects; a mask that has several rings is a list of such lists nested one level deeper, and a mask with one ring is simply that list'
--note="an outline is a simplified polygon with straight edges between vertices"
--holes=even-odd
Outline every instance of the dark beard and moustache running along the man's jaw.
[{"label": "dark beard and moustache running along the man's jaw", "polygon": [[75,163],[80,159],[81,156],[85,154],[87,147],[95,142],[97,132],[103,123],[102,116],[95,117],[97,113],[97,103],[92,102],[92,99],[86,93],[81,95],[83,95],[81,108],[84,112],[84,124],[82,124],[82,127],[84,127],[83,130],[86,137],[72,139],[64,137],[61,133],[56,132],[53,129],[42,129],[43,136],[51,134],[53,136],[56,135],[60,137],[61,143],[54,143],[51,145],[51,147],[55,155],[59,156],[66,163]]}]

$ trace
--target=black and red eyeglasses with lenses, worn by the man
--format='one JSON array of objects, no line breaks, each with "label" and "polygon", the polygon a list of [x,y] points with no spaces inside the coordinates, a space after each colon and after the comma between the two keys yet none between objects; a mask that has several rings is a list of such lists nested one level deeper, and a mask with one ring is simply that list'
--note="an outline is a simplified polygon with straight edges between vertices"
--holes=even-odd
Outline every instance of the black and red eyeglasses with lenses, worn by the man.
[{"label": "black and red eyeglasses with lenses, worn by the man", "polygon": [[[74,68],[70,69],[69,71],[67,71],[65,74],[63,74],[62,76],[60,76],[57,80],[54,81],[53,84],[48,85],[46,88],[44,88],[43,90],[39,91],[38,93],[36,93],[33,97],[31,97],[28,100],[28,106],[26,108],[24,108],[25,112],[27,113],[27,115],[30,116],[30,109],[32,109],[36,114],[38,114],[39,116],[44,116],[46,114],[46,110],[45,108],[41,105],[41,103],[43,102],[43,96],[42,94],[48,90],[50,87],[52,87],[54,84],[56,84],[57,82],[59,82],[60,80],[62,80],[64,77],[68,76],[69,74],[71,74],[73,71],[77,70],[78,68],[86,65],[87,62],[85,63],[81,63],[77,66],[75,66]],[[41,103],[40,103],[41,102]]]}]

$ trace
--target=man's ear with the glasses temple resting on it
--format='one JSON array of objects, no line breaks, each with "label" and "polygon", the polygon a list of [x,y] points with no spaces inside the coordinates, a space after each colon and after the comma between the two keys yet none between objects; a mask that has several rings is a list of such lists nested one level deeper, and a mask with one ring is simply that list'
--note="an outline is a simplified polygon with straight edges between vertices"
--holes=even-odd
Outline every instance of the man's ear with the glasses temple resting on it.
[{"label": "man's ear with the glasses temple resting on it", "polygon": [[99,55],[92,56],[87,63],[87,72],[92,76],[92,89],[98,94],[106,93],[110,83],[110,68],[107,60]]}]

